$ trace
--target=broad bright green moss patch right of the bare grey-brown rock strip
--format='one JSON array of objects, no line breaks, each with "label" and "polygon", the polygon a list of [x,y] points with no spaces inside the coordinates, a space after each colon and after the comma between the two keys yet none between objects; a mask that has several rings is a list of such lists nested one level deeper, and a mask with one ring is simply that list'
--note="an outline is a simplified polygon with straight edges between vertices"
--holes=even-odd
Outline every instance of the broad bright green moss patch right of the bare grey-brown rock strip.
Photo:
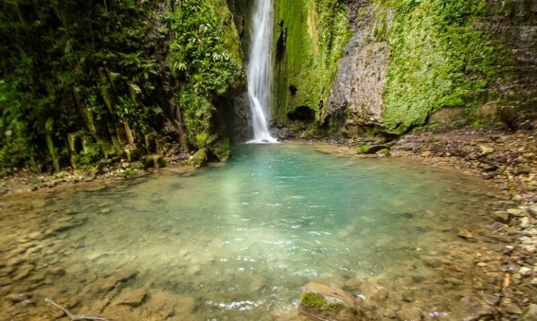
[{"label": "broad bright green moss patch right of the bare grey-brown rock strip", "polygon": [[472,110],[513,66],[499,40],[478,29],[485,0],[386,0],[393,8],[384,125],[401,134],[442,107]]}]

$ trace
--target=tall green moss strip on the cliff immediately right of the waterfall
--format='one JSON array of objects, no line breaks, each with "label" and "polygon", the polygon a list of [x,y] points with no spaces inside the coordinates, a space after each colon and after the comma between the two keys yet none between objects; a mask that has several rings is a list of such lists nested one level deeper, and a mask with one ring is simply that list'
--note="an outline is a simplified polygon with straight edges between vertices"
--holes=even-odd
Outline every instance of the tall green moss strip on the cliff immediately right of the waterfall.
[{"label": "tall green moss strip on the cliff immediately right of the waterfall", "polygon": [[275,0],[275,119],[326,103],[349,36],[346,1]]}]

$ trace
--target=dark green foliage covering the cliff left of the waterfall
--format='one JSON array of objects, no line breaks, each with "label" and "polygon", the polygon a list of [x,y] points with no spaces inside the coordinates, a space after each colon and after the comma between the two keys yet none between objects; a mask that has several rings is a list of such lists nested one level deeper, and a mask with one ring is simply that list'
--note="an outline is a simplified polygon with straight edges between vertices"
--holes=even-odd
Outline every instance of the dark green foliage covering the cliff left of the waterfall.
[{"label": "dark green foliage covering the cliff left of the waterfall", "polygon": [[[67,135],[80,130],[116,151],[125,135],[144,144],[142,134],[162,129],[153,106],[167,82],[188,106],[188,126],[201,130],[188,133],[196,145],[211,127],[208,104],[245,84],[225,0],[10,0],[0,9],[4,172],[33,158],[51,169],[52,151],[66,163]],[[79,158],[89,165],[100,154]]]}]

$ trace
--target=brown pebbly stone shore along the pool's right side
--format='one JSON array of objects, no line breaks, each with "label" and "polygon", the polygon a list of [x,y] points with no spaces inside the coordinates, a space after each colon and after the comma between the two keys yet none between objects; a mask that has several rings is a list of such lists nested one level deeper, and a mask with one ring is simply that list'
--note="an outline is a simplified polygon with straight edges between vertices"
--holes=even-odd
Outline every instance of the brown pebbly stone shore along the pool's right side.
[{"label": "brown pebbly stone shore along the pool's right side", "polygon": [[[363,146],[388,146],[392,158],[416,160],[487,181],[501,200],[490,209],[490,218],[496,221],[497,230],[492,233],[462,230],[460,237],[480,238],[495,245],[499,260],[494,264],[483,263],[483,269],[495,275],[491,283],[499,285],[499,292],[490,293],[497,297],[489,302],[494,307],[494,315],[469,320],[537,320],[536,129],[431,130],[407,135],[391,145],[370,137],[323,143],[324,150],[358,157],[386,157],[386,151],[364,154],[368,148]],[[483,229],[486,229],[485,223]]]}]

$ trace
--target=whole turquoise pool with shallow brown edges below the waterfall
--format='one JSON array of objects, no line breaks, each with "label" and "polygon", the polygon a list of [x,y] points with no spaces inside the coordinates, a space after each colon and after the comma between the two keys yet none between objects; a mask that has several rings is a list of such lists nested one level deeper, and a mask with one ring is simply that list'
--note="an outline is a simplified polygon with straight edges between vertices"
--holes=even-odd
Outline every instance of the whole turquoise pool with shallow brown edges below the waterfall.
[{"label": "whole turquoise pool with shallow brown edges below the waterfall", "polygon": [[[481,295],[474,253],[487,255],[457,227],[483,229],[495,201],[474,177],[296,143],[41,195],[8,200],[23,219],[1,212],[0,294],[33,292],[116,320],[289,320],[305,283],[362,297],[356,279],[387,289],[385,310],[457,320],[460,299]],[[41,301],[3,301],[0,319],[50,320]]]}]

